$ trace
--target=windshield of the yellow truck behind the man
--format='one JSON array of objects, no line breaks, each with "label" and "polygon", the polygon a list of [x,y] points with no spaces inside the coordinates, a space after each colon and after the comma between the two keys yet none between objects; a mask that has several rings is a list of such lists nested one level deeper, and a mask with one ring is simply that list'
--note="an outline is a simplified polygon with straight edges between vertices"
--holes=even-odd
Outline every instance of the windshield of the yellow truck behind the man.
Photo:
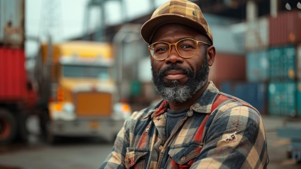
[{"label": "windshield of the yellow truck behind the man", "polygon": [[82,65],[64,65],[64,77],[88,77],[98,79],[108,79],[108,67],[104,66],[82,66]]}]

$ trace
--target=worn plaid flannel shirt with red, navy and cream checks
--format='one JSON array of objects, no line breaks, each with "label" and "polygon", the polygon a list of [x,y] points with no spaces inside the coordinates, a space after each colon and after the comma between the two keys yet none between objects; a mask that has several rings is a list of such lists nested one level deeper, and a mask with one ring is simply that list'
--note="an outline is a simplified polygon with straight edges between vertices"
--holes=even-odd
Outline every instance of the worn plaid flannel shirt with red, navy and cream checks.
[{"label": "worn plaid flannel shirt with red, navy and cream checks", "polygon": [[[218,95],[227,99],[212,110]],[[161,163],[167,163],[167,168],[267,167],[265,128],[259,112],[219,92],[211,81],[169,138],[165,136],[166,111],[156,115],[160,104],[136,111],[125,121],[100,168],[160,168]]]}]

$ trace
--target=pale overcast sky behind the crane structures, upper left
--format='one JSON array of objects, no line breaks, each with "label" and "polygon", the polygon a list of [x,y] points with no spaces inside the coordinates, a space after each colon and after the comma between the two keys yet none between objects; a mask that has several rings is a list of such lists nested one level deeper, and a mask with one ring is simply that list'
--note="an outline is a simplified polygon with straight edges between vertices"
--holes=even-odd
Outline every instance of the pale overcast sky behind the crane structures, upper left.
[{"label": "pale overcast sky behind the crane structures, upper left", "polygon": [[[126,2],[126,16],[133,19],[143,14],[151,13],[151,0],[123,0]],[[168,0],[155,0],[159,6]],[[26,35],[41,36],[45,27],[54,25],[55,40],[77,37],[84,33],[84,13],[89,0],[25,0]],[[50,3],[51,2],[51,3]],[[118,1],[110,0],[105,5],[106,24],[120,23],[122,16]],[[92,27],[97,27],[100,20],[98,10],[92,10],[90,15]],[[52,20],[48,22],[48,20]]]}]

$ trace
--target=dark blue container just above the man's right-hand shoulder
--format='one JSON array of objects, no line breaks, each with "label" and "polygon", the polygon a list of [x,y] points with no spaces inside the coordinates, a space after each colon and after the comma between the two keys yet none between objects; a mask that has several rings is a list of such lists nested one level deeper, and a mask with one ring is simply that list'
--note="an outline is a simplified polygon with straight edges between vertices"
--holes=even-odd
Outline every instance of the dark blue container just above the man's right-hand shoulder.
[{"label": "dark blue container just above the man's right-hand shoulder", "polygon": [[222,83],[221,91],[250,103],[260,113],[266,110],[265,83]]}]

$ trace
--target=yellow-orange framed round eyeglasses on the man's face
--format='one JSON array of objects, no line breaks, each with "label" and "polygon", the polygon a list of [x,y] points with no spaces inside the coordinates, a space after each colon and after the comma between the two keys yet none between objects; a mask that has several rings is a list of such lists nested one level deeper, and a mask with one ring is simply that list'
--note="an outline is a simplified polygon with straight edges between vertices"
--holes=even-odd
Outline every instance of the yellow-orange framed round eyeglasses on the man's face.
[{"label": "yellow-orange framed round eyeglasses on the man's face", "polygon": [[185,38],[172,44],[167,42],[155,42],[147,47],[151,53],[151,56],[155,60],[163,61],[169,56],[171,51],[171,45],[175,45],[175,50],[182,58],[191,58],[197,53],[199,43],[210,45],[209,43],[206,42]]}]

